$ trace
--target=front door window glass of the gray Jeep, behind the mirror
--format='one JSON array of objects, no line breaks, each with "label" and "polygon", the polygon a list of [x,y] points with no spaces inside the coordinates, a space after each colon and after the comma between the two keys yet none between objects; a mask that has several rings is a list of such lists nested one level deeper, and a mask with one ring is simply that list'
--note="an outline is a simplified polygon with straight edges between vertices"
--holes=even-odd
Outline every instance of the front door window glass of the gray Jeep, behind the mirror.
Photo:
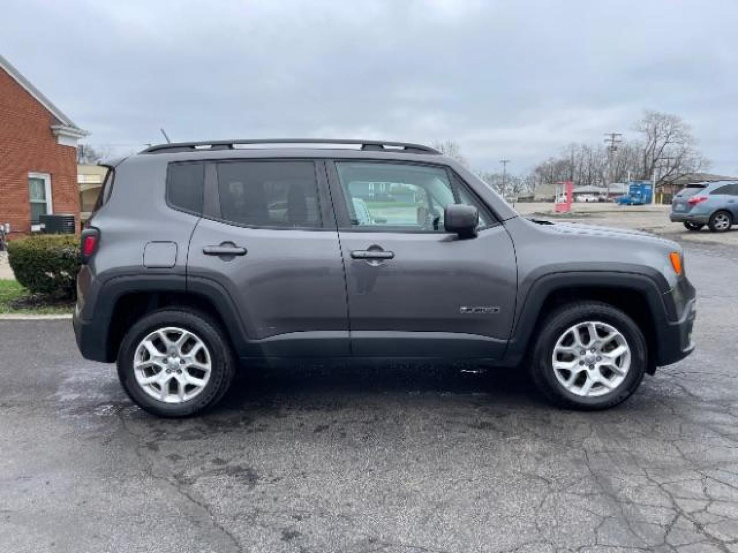
[{"label": "front door window glass of the gray Jeep, behind the mirror", "polygon": [[443,231],[449,204],[475,206],[480,228],[490,224],[479,202],[441,167],[367,161],[338,161],[336,167],[352,227]]}]

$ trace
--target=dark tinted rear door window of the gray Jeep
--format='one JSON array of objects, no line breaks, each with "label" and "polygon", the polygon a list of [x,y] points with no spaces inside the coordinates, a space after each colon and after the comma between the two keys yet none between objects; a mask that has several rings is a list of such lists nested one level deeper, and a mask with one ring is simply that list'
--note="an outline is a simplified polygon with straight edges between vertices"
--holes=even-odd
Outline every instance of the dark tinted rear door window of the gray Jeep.
[{"label": "dark tinted rear door window of the gray Jeep", "polygon": [[320,226],[312,161],[218,164],[222,218],[249,226]]}]

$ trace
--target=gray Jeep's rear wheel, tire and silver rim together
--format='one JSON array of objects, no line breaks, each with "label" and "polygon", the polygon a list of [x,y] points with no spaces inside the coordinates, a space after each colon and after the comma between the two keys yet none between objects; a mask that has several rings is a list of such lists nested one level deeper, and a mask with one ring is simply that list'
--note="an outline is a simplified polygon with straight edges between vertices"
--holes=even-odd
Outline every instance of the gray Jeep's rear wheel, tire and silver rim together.
[{"label": "gray Jeep's rear wheel, tire and silver rim together", "polygon": [[128,397],[159,417],[187,417],[214,406],[233,372],[218,324],[193,310],[144,316],[128,330],[118,354],[118,376]]}]

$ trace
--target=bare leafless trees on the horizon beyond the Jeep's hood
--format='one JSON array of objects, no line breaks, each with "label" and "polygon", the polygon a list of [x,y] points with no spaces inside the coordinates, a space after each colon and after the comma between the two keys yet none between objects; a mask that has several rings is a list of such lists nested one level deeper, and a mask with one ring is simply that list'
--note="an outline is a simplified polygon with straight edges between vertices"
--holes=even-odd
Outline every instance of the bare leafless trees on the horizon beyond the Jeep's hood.
[{"label": "bare leafless trees on the horizon beyond the Jeep's hood", "polygon": [[[680,116],[646,111],[633,128],[636,136],[622,139],[615,149],[604,141],[570,144],[556,156],[539,162],[528,174],[476,173],[497,192],[514,197],[561,181],[573,181],[575,186],[607,187],[610,182],[648,180],[655,181],[658,187],[709,168],[692,129]],[[467,164],[455,142],[441,142],[435,147]]]}]

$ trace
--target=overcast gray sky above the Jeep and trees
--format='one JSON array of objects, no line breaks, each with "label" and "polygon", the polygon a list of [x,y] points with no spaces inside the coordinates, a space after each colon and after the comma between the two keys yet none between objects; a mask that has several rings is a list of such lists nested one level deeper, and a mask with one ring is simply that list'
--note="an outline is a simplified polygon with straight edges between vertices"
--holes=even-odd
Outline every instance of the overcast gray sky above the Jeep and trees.
[{"label": "overcast gray sky above the Jeep and trees", "polygon": [[655,109],[738,175],[735,0],[3,0],[0,52],[92,145],[450,139],[523,173]]}]

